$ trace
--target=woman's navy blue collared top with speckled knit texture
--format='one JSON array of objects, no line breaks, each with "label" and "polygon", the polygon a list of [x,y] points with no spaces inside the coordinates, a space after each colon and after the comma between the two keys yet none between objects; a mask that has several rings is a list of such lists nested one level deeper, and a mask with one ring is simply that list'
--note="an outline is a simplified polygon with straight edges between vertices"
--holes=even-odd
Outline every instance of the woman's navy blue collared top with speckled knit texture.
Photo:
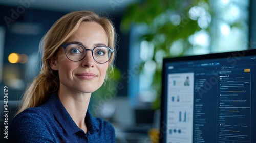
[{"label": "woman's navy blue collared top with speckled knit texture", "polygon": [[84,133],[60,102],[56,93],[40,107],[19,113],[9,129],[8,142],[115,142],[113,126],[87,111]]}]

